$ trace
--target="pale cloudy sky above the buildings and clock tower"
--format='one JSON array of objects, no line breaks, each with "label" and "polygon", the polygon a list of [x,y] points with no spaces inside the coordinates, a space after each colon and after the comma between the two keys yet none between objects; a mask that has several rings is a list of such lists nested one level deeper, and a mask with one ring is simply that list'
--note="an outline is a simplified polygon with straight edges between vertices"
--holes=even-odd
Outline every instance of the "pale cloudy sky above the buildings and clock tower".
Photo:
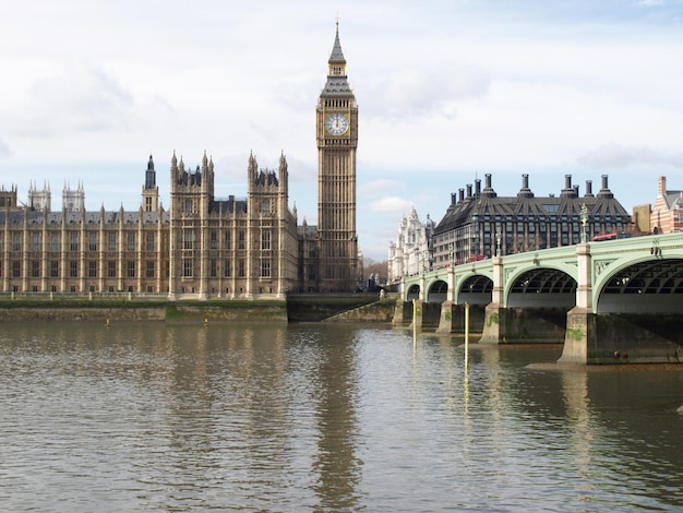
[{"label": "pale cloudy sky above the buildings and clock tower", "polygon": [[86,207],[136,210],[149,154],[169,203],[173,151],[245,195],[247,162],[289,163],[316,222],[315,104],[335,22],[359,104],[358,231],[386,258],[411,206],[440,220],[484,174],[529,175],[626,207],[657,177],[683,190],[682,0],[24,0],[0,16],[0,186],[83,183]]}]

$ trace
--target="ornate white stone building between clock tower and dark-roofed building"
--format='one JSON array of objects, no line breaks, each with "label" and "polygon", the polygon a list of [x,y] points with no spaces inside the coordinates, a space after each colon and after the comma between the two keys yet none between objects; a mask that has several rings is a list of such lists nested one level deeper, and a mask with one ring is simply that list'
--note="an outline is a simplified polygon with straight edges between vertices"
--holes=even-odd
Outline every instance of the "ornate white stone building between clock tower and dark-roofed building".
[{"label": "ornate white stone building between clock tower and dark-roofed building", "polygon": [[410,276],[420,271],[431,271],[434,261],[434,222],[429,214],[424,223],[412,207],[398,225],[396,241],[388,247],[388,283]]}]

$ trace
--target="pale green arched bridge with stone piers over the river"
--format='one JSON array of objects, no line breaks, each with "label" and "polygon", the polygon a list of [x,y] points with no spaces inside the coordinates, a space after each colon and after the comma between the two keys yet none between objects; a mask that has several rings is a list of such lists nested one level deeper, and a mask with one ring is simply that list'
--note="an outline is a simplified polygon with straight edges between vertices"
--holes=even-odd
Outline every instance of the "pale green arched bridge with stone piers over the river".
[{"label": "pale green arched bridge with stone piers over the river", "polygon": [[564,343],[561,363],[683,358],[683,234],[585,242],[405,276],[395,322]]}]

